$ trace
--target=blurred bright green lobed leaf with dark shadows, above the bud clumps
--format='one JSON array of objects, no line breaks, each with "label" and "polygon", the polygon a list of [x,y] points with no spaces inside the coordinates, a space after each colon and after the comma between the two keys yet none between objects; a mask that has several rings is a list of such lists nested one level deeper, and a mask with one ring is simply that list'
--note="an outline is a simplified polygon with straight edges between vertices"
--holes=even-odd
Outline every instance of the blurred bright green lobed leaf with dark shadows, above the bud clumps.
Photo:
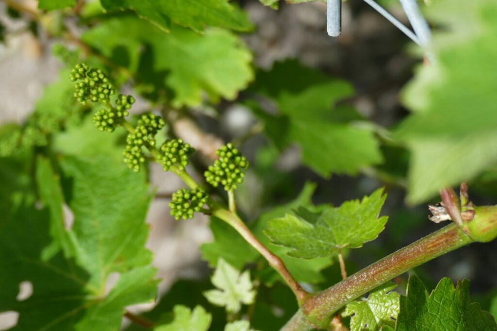
[{"label": "blurred bright green lobed leaf with dark shadows, above the bud clumps", "polygon": [[253,78],[250,52],[226,30],[199,35],[174,25],[165,34],[147,21],[123,16],[88,30],[83,41],[129,68],[143,90],[155,91],[150,95],[170,93],[178,108],[198,106],[204,94],[214,102],[232,100]]}]

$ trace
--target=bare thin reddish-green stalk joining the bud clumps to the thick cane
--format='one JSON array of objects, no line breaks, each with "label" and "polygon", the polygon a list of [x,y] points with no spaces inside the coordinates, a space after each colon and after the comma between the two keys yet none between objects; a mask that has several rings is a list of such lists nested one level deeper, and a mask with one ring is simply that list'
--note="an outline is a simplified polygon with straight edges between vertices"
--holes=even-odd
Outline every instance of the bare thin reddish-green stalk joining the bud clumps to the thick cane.
[{"label": "bare thin reddish-green stalk joining the bud clumps to the thick cane", "polygon": [[229,225],[231,225],[237,232],[253,247],[257,252],[259,252],[276,271],[279,272],[281,277],[286,281],[290,289],[293,291],[297,297],[299,305],[304,302],[308,294],[300,284],[293,278],[285,264],[281,259],[269,251],[248,229],[247,225],[240,219],[240,217],[229,210],[224,208],[214,208],[212,214]]}]

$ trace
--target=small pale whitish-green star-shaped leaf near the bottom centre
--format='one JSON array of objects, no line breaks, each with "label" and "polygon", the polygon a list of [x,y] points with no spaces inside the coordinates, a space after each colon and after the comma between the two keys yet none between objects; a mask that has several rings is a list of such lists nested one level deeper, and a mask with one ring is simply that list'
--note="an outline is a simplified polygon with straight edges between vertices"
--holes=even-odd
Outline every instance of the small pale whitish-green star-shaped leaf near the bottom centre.
[{"label": "small pale whitish-green star-shaped leaf near the bottom centre", "polygon": [[248,270],[242,274],[223,259],[219,259],[212,284],[218,289],[204,292],[204,296],[214,305],[224,306],[231,313],[238,313],[242,304],[250,305],[255,299],[255,291]]}]

